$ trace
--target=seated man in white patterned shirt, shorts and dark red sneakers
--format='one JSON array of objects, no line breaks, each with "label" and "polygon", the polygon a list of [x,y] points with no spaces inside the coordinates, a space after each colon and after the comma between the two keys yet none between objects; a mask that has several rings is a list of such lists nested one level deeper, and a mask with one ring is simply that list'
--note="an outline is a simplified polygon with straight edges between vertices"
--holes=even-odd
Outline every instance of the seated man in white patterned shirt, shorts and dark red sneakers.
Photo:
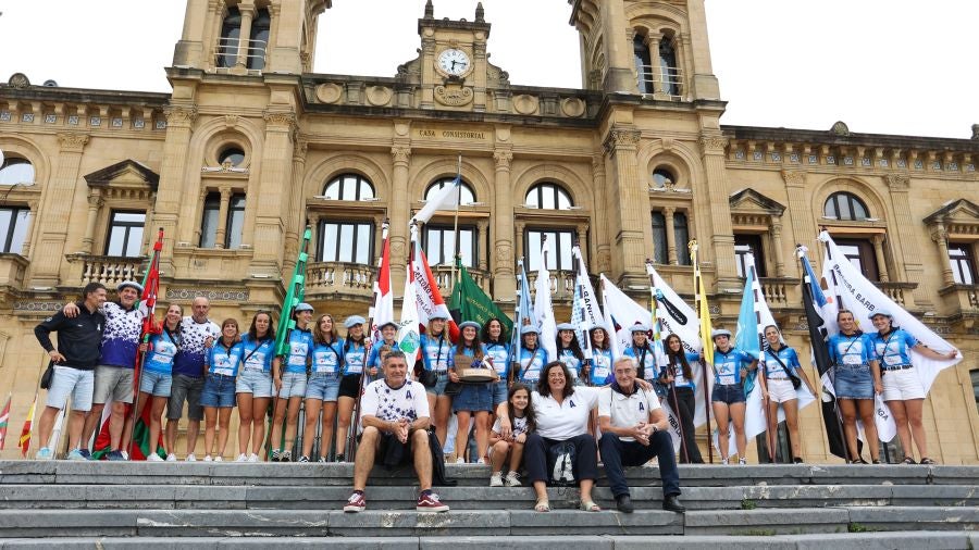
[{"label": "seated man in white patterned shirt, shorts and dark red sneakers", "polygon": [[429,448],[429,400],[425,387],[408,379],[405,353],[392,351],[382,362],[384,378],[368,385],[360,398],[363,433],[354,461],[354,495],[344,512],[367,508],[363,489],[375,457],[386,466],[414,462],[421,495],[419,512],[447,512],[432,492],[432,450]]}]

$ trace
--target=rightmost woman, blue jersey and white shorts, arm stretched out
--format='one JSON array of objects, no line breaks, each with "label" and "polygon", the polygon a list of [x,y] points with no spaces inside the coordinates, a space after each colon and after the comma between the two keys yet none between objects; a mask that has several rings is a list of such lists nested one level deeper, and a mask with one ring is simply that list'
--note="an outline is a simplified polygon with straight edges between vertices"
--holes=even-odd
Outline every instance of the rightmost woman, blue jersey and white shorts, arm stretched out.
[{"label": "rightmost woman, blue jersey and white shorts, arm stretched out", "polygon": [[894,422],[897,424],[897,437],[904,449],[904,463],[914,464],[912,438],[918,447],[921,464],[934,464],[928,458],[928,442],[925,439],[925,426],[921,424],[921,410],[925,403],[925,385],[912,363],[910,350],[934,360],[955,359],[958,350],[940,353],[912,336],[908,332],[894,326],[894,317],[887,311],[876,311],[870,315],[877,334],[872,336],[873,351],[880,361],[883,385],[883,400],[888,402]]}]

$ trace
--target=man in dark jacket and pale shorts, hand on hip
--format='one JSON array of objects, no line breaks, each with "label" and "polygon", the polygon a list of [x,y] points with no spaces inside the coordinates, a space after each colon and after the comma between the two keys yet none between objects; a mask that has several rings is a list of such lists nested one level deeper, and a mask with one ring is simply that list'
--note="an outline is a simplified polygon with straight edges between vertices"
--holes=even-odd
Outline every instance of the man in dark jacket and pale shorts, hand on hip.
[{"label": "man in dark jacket and pale shorts, hand on hip", "polygon": [[[48,388],[48,401],[45,412],[38,422],[38,435],[41,448],[37,459],[53,459],[54,453],[48,447],[51,429],[58,413],[64,409],[67,398],[72,397],[72,413],[69,416],[69,442],[71,452],[69,460],[85,460],[80,452],[82,427],[85,415],[91,410],[91,393],[95,387],[95,367],[99,361],[102,343],[102,330],[106,317],[99,308],[106,303],[106,286],[101,283],[89,283],[82,290],[79,313],[75,318],[67,318],[59,311],[34,328],[34,335],[54,363],[54,376]],[[58,347],[51,343],[51,333],[58,333]]]}]

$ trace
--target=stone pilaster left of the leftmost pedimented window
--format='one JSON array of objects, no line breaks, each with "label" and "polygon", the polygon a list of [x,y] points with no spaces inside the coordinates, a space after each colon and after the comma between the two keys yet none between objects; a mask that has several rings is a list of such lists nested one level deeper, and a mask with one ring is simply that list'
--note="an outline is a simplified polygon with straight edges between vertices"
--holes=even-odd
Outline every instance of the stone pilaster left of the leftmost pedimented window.
[{"label": "stone pilaster left of the leftmost pedimented window", "polygon": [[[44,215],[37,216],[40,242],[35,247],[35,257],[30,267],[32,286],[58,286],[62,279],[62,270],[69,268],[64,262],[67,246],[67,228],[71,227],[72,203],[78,184],[78,167],[82,164],[82,152],[88,143],[87,134],[59,134],[60,151],[54,161],[54,173],[45,189]],[[77,246],[77,245],[76,245]]]}]

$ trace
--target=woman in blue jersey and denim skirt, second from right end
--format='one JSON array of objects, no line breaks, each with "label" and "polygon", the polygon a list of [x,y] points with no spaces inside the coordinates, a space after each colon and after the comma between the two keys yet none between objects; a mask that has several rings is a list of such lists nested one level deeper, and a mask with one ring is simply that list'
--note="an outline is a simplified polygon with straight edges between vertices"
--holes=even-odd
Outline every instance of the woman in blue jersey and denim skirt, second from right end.
[{"label": "woman in blue jersey and denim skirt, second from right end", "polygon": [[873,340],[857,329],[850,310],[837,313],[837,325],[840,326],[840,333],[830,336],[827,343],[833,361],[833,390],[840,405],[840,415],[843,416],[843,434],[846,436],[846,449],[851,457],[846,462],[867,463],[857,450],[856,421],[859,414],[864,423],[865,441],[870,447],[870,460],[880,464],[873,393],[879,393],[883,388]]}]

